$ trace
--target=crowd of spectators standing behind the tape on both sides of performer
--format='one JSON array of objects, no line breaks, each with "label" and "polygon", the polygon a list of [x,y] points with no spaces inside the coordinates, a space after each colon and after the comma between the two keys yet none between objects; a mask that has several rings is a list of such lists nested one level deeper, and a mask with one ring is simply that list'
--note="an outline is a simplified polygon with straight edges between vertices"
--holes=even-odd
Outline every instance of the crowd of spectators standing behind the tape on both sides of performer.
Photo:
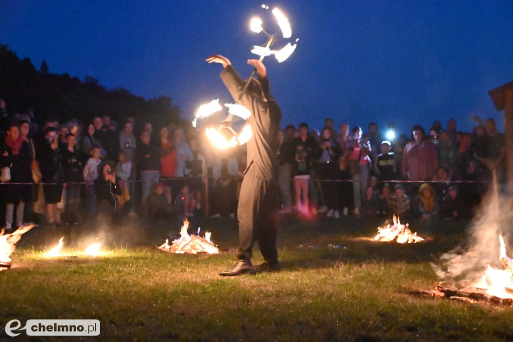
[{"label": "crowd of spectators standing behind the tape on both sides of performer", "polygon": [[[218,151],[192,127],[160,131],[128,117],[89,123],[57,119],[42,127],[0,100],[0,168],[7,229],[45,215],[44,224],[73,225],[106,212],[114,223],[139,215],[206,213],[234,217],[246,167],[244,146]],[[478,121],[478,118],[476,118]],[[505,139],[493,119],[472,132],[421,126],[411,138],[385,139],[376,123],[363,132],[331,118],[324,128],[288,125],[276,154],[282,213],[458,219],[472,215],[496,175],[505,182]],[[396,133],[397,134],[397,133]],[[208,190],[208,196],[206,193]],[[15,219],[15,220],[14,220]]]}]

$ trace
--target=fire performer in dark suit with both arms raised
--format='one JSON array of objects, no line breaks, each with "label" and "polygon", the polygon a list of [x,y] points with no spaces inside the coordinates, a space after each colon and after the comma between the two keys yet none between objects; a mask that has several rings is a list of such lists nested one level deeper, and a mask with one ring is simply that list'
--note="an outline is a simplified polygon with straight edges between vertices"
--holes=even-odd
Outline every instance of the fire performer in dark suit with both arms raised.
[{"label": "fire performer in dark suit with both arms raised", "polygon": [[[249,59],[259,79],[251,78],[247,91],[241,94],[245,83],[233,69],[228,58],[213,55],[208,63],[219,63],[224,69],[221,79],[233,98],[251,111],[247,124],[253,134],[247,142],[247,168],[242,181],[239,208],[239,260],[221,273],[234,276],[255,271],[279,271],[278,251],[276,249],[277,223],[274,213],[280,205],[278,185],[278,158],[274,151],[278,147],[277,133],[282,113],[280,107],[269,92],[267,70],[259,59]],[[265,263],[253,268],[251,251],[257,241]]]}]

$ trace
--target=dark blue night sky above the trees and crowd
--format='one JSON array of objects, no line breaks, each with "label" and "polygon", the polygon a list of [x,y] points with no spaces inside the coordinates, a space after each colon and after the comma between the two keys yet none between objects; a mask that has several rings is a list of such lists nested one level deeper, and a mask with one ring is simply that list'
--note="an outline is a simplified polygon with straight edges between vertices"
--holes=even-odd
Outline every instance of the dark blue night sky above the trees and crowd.
[{"label": "dark blue night sky above the trees and crowd", "polygon": [[[265,36],[249,30],[261,1],[0,0],[0,44],[38,68],[123,87],[146,98],[166,95],[192,117],[213,98],[231,101],[219,65],[226,55],[246,77],[250,47]],[[513,81],[513,1],[281,1],[297,50],[272,57],[272,89],[282,126],[306,121],[409,131],[470,114],[495,117],[488,90]],[[270,14],[268,12],[268,14]],[[269,17],[269,20],[271,18]],[[264,18],[265,21],[265,18]]]}]

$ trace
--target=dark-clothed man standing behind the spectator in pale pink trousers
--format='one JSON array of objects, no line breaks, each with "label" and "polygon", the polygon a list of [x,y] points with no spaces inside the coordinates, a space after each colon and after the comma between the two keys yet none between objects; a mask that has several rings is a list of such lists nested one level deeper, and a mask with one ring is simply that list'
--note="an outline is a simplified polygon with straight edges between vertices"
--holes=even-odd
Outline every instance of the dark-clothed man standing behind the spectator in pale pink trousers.
[{"label": "dark-clothed man standing behind the spectator in pale pink trousers", "polygon": [[[313,214],[317,214],[317,206],[319,205],[319,190],[317,188],[317,174],[315,170],[315,166],[312,165],[312,158],[315,150],[317,150],[318,145],[315,141],[315,138],[310,136],[308,134],[308,124],[307,123],[301,123],[299,124],[299,137],[294,139],[294,144],[296,149],[298,146],[302,146],[303,150],[302,152],[305,152],[307,154],[306,157],[301,158],[302,161],[308,160],[308,171],[309,171],[309,178],[308,178],[308,191],[306,192],[306,196],[309,198],[310,206],[312,208]],[[296,152],[296,155],[298,153]],[[302,153],[303,154],[303,153]],[[298,159],[296,158],[296,161]],[[303,171],[300,171],[303,172]],[[304,175],[302,175],[304,178]],[[294,177],[295,178],[295,177]],[[304,180],[304,179],[302,179]],[[296,186],[297,188],[297,186]],[[296,192],[297,194],[297,192]],[[307,203],[308,204],[308,203]],[[300,209],[300,208],[298,208]],[[304,209],[304,208],[302,208]]]}]

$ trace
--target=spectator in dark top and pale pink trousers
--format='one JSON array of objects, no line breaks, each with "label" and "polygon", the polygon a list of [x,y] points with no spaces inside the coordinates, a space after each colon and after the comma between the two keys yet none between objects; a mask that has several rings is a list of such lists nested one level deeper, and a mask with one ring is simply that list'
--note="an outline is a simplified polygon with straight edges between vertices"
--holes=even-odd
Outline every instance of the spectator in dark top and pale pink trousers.
[{"label": "spectator in dark top and pale pink trousers", "polygon": [[294,171],[294,189],[295,189],[295,207],[298,213],[308,214],[308,183],[310,179],[310,155],[305,147],[298,145],[295,150],[295,171]]}]

